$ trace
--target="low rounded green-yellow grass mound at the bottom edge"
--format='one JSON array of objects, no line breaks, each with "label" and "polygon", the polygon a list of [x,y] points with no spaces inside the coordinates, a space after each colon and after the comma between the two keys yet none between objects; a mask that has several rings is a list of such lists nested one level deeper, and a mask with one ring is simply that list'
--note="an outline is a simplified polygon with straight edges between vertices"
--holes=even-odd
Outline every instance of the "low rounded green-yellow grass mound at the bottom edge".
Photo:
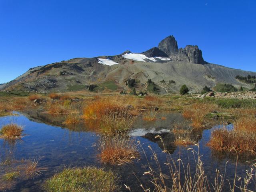
[{"label": "low rounded green-yellow grass mound at the bottom edge", "polygon": [[96,167],[65,168],[46,180],[44,188],[49,192],[112,192],[116,180],[114,173]]}]

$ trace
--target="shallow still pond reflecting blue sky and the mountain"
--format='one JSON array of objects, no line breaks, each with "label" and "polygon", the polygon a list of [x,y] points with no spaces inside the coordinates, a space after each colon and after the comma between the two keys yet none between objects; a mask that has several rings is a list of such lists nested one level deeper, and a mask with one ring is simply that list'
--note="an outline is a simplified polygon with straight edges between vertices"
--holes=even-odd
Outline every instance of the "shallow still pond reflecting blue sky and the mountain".
[{"label": "shallow still pond reflecting blue sky and the mountain", "polygon": [[[162,171],[168,177],[168,169],[164,166],[166,154],[162,153],[164,148],[161,140],[159,138],[155,139],[155,136],[160,135],[162,137],[166,150],[170,152],[174,160],[181,158],[184,164],[186,164],[193,160],[192,152],[185,147],[175,146],[174,144],[175,137],[171,130],[171,124],[173,122],[183,122],[182,114],[162,112],[159,115],[165,116],[166,120],[144,121],[141,117],[138,117],[129,134],[131,138],[140,141],[150,164],[154,166],[154,160],[150,160],[152,152],[148,146],[152,147],[158,156],[160,164],[162,164]],[[14,168],[16,164],[18,166],[18,162],[21,160],[34,159],[39,160],[39,166],[47,167],[47,171],[34,178],[17,178],[12,183],[12,187],[7,191],[44,191],[42,188],[44,180],[53,176],[56,172],[60,172],[65,167],[89,165],[111,169],[117,173],[120,176],[119,184],[122,191],[126,190],[124,184],[129,186],[132,191],[142,191],[139,186],[140,182],[144,185],[149,183],[149,178],[145,175],[143,176],[148,162],[142,152],[140,160],[134,160],[133,164],[123,166],[101,164],[97,156],[99,153],[100,134],[94,131],[88,124],[64,126],[62,125],[63,116],[52,116],[40,112],[27,111],[14,117],[1,117],[0,126],[8,124],[10,119],[12,121],[14,119],[17,124],[23,126],[25,136],[16,142],[0,139],[0,161],[5,162],[8,159],[17,161],[14,164],[1,164],[0,174],[4,174],[8,169]],[[187,123],[189,124],[189,122]],[[214,126],[212,129],[218,127]],[[227,128],[232,128],[232,124],[227,125]],[[226,179],[234,180],[235,158],[226,164],[226,161],[230,160],[230,158],[232,159],[232,157],[226,154],[216,154],[206,145],[210,139],[212,129],[196,132],[199,138],[200,154],[203,155],[201,159],[204,163],[208,180],[214,182],[217,168],[221,174],[225,173],[226,168]],[[198,151],[198,146],[193,145],[189,147],[193,148],[196,152]],[[245,176],[250,163],[246,162],[246,160],[239,160],[237,175]],[[193,172],[195,167],[191,166],[191,169]],[[254,191],[256,189],[254,186],[251,186],[251,190]]]}]

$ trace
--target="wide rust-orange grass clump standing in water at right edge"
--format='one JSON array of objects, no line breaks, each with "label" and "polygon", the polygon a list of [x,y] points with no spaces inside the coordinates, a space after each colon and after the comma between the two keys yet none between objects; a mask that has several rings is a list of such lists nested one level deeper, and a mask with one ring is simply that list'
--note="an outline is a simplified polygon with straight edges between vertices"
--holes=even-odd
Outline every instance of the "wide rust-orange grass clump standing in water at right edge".
[{"label": "wide rust-orange grass clump standing in water at right edge", "polygon": [[256,133],[226,128],[216,129],[212,131],[208,146],[218,151],[230,152],[234,148],[238,154],[256,155]]}]

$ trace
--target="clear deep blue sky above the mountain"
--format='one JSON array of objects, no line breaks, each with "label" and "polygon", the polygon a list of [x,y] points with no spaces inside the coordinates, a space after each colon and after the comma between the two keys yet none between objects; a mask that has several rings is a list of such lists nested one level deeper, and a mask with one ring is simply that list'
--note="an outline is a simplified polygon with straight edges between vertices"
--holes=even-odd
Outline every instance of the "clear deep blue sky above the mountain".
[{"label": "clear deep blue sky above the mountain", "polygon": [[256,0],[0,0],[0,83],[75,57],[142,52],[174,35],[256,71]]}]

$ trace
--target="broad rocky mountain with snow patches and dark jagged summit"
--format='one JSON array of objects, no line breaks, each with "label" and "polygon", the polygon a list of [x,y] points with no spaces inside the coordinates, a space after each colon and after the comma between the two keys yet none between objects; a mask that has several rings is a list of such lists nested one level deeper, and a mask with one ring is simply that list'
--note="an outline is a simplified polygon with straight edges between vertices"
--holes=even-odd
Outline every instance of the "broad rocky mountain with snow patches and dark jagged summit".
[{"label": "broad rocky mountain with snow patches and dark jagged summit", "polygon": [[255,76],[256,72],[208,63],[198,46],[178,48],[174,36],[168,36],[158,47],[142,53],[126,51],[115,56],[73,58],[30,68],[11,82],[0,85],[0,90],[68,92],[87,90],[90,84],[96,84],[98,92],[120,91],[130,89],[129,79],[135,79],[138,91],[149,89],[147,81],[152,79],[160,94],[178,92],[182,84],[192,92],[217,83],[252,87],[252,84],[238,81],[237,75]]}]

